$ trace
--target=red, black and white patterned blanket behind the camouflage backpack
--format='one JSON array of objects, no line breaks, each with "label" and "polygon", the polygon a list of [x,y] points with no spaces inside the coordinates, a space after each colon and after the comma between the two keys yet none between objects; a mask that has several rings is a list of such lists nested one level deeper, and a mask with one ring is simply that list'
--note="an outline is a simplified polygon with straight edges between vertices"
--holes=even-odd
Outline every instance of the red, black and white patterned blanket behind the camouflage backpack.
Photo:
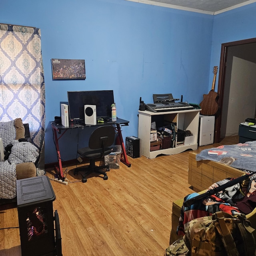
[{"label": "red, black and white patterned blanket behind the camouflage backpack", "polygon": [[[208,189],[213,189],[222,184],[233,180],[227,178],[216,182]],[[197,193],[190,194],[184,198],[186,202],[190,198],[197,196]],[[182,206],[179,225],[177,228],[178,235],[184,235],[184,230],[191,220],[199,217],[210,216],[214,212],[228,212],[231,215],[248,214],[256,207],[256,174],[232,187],[226,188],[212,196],[196,201],[189,207]]]}]

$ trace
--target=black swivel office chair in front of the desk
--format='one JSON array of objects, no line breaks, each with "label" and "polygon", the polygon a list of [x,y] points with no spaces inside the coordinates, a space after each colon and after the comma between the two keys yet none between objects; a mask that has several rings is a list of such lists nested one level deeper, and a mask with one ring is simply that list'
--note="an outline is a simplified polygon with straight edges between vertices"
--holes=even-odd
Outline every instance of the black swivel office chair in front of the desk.
[{"label": "black swivel office chair in front of the desk", "polygon": [[98,174],[104,175],[103,179],[107,180],[108,176],[106,172],[102,169],[109,171],[109,166],[95,166],[95,160],[100,159],[111,153],[112,149],[110,146],[114,143],[115,140],[115,129],[113,126],[99,126],[91,134],[89,138],[89,145],[86,148],[78,149],[78,154],[84,158],[90,160],[90,165],[85,168],[76,168],[74,174],[77,175],[78,171],[85,171],[83,175],[82,182],[86,182],[89,174],[96,172]]}]

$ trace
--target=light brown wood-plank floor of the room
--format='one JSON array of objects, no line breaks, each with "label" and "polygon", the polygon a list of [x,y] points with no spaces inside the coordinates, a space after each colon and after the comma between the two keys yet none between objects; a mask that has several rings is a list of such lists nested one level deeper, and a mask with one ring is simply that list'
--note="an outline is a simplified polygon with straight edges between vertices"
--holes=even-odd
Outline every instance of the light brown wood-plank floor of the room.
[{"label": "light brown wood-plank floor of the room", "polygon": [[[219,144],[236,144],[238,136]],[[111,169],[80,182],[66,169],[68,185],[51,180],[60,217],[63,256],[158,256],[169,245],[172,202],[193,192],[188,184],[188,151],[154,159],[129,158],[131,167]],[[53,170],[46,170],[54,178]],[[17,208],[0,206],[0,255],[20,256]],[[4,229],[1,229],[4,228]],[[47,246],[47,245],[46,245]]]}]

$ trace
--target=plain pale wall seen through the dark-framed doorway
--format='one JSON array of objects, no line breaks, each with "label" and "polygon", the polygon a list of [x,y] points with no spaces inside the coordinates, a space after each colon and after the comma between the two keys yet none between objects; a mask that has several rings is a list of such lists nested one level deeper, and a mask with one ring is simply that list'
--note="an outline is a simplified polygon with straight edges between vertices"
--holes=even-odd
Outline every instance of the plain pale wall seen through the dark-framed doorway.
[{"label": "plain pale wall seen through the dark-framed doorway", "polygon": [[238,134],[256,107],[256,43],[228,47],[221,137]]}]

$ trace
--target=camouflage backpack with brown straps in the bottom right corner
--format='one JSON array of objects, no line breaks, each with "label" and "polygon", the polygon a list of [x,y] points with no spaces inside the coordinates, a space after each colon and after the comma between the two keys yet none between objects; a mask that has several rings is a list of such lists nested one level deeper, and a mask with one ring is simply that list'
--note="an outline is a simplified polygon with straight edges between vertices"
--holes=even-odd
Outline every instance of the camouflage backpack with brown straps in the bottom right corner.
[{"label": "camouflage backpack with brown straps in the bottom right corner", "polygon": [[191,256],[253,256],[253,231],[244,214],[216,212],[190,221],[184,242]]}]

